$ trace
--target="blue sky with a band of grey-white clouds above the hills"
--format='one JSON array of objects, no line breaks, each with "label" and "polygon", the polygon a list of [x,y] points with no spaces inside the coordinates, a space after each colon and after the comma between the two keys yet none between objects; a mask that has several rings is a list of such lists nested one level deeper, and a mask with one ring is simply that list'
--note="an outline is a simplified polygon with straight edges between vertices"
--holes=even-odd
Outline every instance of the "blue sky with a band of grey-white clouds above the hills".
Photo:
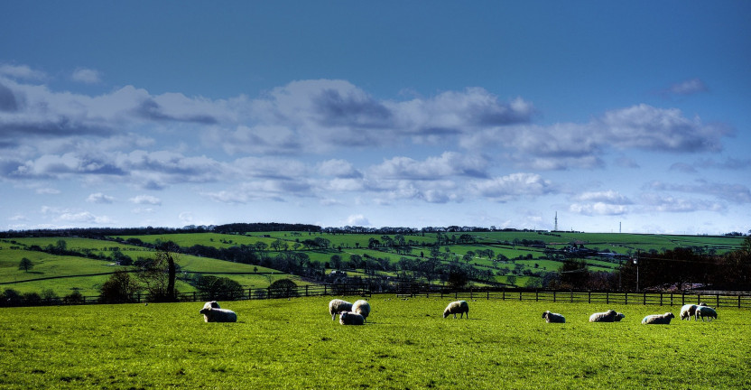
[{"label": "blue sky with a band of grey-white clouds above the hills", "polygon": [[751,229],[751,2],[7,2],[0,230]]}]

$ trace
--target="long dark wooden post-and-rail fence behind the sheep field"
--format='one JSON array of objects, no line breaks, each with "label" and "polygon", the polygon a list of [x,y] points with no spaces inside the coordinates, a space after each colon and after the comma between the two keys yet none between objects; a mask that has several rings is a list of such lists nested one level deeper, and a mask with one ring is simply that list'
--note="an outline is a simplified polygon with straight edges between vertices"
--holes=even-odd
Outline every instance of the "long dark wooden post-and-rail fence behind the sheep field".
[{"label": "long dark wooden post-and-rail fence behind the sheep field", "polygon": [[[501,301],[533,301],[533,302],[568,302],[568,303],[601,303],[603,305],[659,305],[677,306],[687,303],[705,302],[713,307],[736,307],[738,309],[751,309],[751,292],[602,292],[602,291],[576,291],[576,290],[535,290],[517,288],[470,288],[456,290],[440,285],[399,283],[391,286],[378,286],[377,288],[367,284],[321,284],[304,285],[287,289],[274,288],[249,288],[242,292],[233,293],[209,293],[209,292],[180,292],[177,301],[180,302],[207,302],[207,301],[239,301],[278,299],[292,297],[311,296],[363,296],[370,297],[372,294],[389,293],[397,297],[426,297],[440,299],[465,299],[465,300],[501,300]],[[64,299],[38,299],[31,302],[23,301],[23,296],[11,302],[0,302],[0,306],[34,306],[34,305],[59,305],[59,304],[94,304],[112,303],[103,300],[100,296],[79,296],[75,300]],[[131,297],[128,302],[153,302],[153,297],[139,293]]]}]

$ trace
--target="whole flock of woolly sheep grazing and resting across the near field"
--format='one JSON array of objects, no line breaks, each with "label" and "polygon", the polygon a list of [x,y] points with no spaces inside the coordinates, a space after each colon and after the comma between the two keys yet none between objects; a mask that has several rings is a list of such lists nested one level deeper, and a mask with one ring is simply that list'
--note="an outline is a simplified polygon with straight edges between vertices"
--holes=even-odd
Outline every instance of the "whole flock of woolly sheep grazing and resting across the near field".
[{"label": "whole flock of woolly sheep grazing and resting across the near field", "polygon": [[[206,302],[199,313],[203,314],[203,320],[206,322],[236,322],[237,320],[235,311],[221,309],[216,301]],[[449,306],[446,306],[446,309],[443,311],[443,318],[449,317],[451,314],[454,315],[454,318],[457,318],[457,314],[459,314],[459,318],[464,318],[465,313],[467,314],[467,318],[469,318],[469,303],[467,301],[450,302]],[[329,302],[329,314],[331,315],[331,320],[336,320],[338,315],[339,323],[342,325],[364,325],[367,316],[370,315],[370,303],[364,300],[351,303],[334,299]],[[704,302],[683,305],[681,308],[681,320],[691,320],[691,317],[694,320],[701,319],[702,321],[704,318],[717,320],[717,311],[707,306]],[[542,318],[546,322],[566,322],[566,318],[563,315],[551,311],[543,312]],[[618,322],[624,318],[626,318],[626,314],[609,310],[592,314],[589,316],[589,322]],[[670,324],[670,320],[674,318],[675,315],[672,312],[652,314],[644,317],[642,323],[668,325]]]}]

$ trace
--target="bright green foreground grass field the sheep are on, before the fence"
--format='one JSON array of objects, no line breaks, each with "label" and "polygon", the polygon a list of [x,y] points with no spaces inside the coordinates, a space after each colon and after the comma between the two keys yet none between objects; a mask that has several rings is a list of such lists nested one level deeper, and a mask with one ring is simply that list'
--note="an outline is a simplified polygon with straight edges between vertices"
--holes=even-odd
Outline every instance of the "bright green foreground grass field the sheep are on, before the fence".
[{"label": "bright green foreground grass field the sheep are on, before the fence", "polygon": [[[342,297],[350,302],[358,297]],[[751,387],[749,312],[641,325],[678,306],[469,302],[374,295],[369,322],[331,321],[331,297],[221,302],[236,323],[205,323],[199,303],[0,309],[0,387],[634,388]],[[542,311],[561,312],[548,324]]]}]

